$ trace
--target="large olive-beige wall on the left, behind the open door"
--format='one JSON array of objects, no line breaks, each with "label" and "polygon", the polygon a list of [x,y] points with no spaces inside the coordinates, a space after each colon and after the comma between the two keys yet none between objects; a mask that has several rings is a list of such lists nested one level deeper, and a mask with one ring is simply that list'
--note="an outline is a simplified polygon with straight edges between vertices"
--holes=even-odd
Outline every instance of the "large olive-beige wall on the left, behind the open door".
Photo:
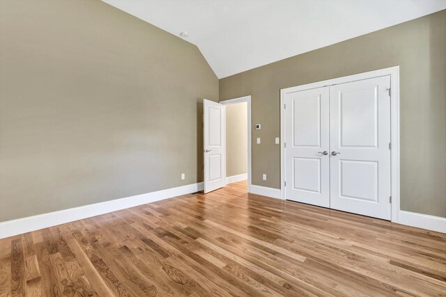
[{"label": "large olive-beige wall on the left, behind the open door", "polygon": [[201,181],[201,98],[189,42],[101,1],[0,1],[0,221]]}]

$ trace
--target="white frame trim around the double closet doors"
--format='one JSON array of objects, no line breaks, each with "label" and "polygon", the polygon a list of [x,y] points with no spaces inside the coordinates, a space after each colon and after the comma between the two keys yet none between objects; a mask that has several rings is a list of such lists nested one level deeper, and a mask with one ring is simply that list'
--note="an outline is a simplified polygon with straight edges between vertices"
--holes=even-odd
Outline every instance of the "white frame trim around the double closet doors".
[{"label": "white frame trim around the double closet doors", "polygon": [[348,75],[347,77],[337,77],[316,83],[307,83],[302,86],[284,88],[280,90],[280,191],[282,199],[286,199],[285,191],[285,95],[287,93],[308,90],[312,88],[321,88],[323,86],[332,86],[339,83],[348,83],[350,81],[360,81],[362,79],[371,79],[373,77],[383,77],[390,75],[390,133],[392,141],[392,222],[399,222],[399,66],[384,68],[364,72],[360,74]]}]

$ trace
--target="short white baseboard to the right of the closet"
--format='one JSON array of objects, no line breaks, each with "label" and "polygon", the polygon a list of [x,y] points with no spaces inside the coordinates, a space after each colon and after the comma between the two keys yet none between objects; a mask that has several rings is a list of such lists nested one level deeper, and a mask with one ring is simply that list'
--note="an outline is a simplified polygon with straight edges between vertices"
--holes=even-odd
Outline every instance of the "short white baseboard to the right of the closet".
[{"label": "short white baseboard to the right of the closet", "polygon": [[440,218],[439,216],[429,216],[427,214],[401,210],[399,211],[399,223],[446,233],[446,218]]}]

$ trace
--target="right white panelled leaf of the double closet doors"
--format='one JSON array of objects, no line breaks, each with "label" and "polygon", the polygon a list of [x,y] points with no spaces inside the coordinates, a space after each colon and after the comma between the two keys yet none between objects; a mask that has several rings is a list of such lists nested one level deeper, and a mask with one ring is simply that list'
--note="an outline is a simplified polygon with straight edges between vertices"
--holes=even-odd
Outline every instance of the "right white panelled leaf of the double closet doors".
[{"label": "right white panelled leaf of the double closet doors", "polygon": [[330,207],[390,220],[390,76],[330,86]]}]

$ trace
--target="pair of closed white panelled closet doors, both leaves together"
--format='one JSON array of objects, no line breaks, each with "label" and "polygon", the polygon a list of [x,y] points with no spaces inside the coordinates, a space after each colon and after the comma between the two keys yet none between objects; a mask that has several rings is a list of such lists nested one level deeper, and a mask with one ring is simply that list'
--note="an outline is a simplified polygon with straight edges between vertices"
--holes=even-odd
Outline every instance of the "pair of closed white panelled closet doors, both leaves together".
[{"label": "pair of closed white panelled closet doors, both leaves together", "polygon": [[285,96],[286,199],[390,220],[390,76]]}]

